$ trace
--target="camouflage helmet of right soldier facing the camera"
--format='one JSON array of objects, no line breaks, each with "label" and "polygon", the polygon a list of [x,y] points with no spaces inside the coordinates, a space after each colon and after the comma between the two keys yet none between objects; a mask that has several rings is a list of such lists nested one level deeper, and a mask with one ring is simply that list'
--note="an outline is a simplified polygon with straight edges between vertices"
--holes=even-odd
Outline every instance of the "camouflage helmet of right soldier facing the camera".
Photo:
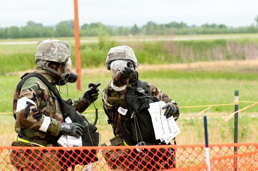
[{"label": "camouflage helmet of right soldier facing the camera", "polygon": [[106,60],[106,67],[110,70],[111,62],[115,60],[130,60],[135,67],[139,67],[139,63],[135,54],[129,46],[116,46],[109,50]]}]

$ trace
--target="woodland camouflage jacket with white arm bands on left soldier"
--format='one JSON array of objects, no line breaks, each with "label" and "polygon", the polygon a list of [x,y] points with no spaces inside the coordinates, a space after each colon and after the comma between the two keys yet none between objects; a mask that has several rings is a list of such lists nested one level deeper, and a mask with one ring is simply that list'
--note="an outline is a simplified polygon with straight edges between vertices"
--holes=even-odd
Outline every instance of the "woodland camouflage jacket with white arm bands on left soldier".
[{"label": "woodland camouflage jacket with white arm bands on left soldier", "polygon": [[[42,74],[55,87],[50,71],[37,67],[34,72]],[[73,101],[73,106],[82,113],[89,103],[81,96]],[[61,123],[64,122],[58,99],[37,77],[28,78],[20,94],[15,89],[12,110],[16,118],[15,131],[19,133],[21,127],[24,128],[23,137],[27,139],[40,138],[48,141],[47,135],[58,136]]]}]

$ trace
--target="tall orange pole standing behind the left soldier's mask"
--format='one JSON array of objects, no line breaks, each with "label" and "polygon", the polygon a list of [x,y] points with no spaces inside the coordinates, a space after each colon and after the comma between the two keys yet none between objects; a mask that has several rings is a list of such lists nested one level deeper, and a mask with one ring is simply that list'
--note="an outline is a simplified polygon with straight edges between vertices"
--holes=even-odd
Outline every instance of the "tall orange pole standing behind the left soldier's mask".
[{"label": "tall orange pole standing behind the left soldier's mask", "polygon": [[74,38],[75,38],[75,65],[76,73],[78,73],[78,79],[76,80],[78,90],[82,90],[81,84],[81,56],[80,56],[80,32],[78,21],[78,3],[74,0]]}]

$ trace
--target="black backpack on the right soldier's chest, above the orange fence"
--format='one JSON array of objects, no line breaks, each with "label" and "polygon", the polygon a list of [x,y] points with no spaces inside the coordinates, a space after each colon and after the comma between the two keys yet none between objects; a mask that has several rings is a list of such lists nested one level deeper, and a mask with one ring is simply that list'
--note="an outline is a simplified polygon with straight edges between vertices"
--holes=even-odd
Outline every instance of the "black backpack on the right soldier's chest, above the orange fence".
[{"label": "black backpack on the right soldier's chest, above the orange fence", "polygon": [[[124,141],[128,145],[136,145],[141,141],[145,143],[160,144],[160,140],[156,140],[155,133],[148,108],[150,103],[160,101],[156,96],[148,94],[146,89],[146,82],[138,80],[135,88],[126,90],[127,113],[123,117],[123,125],[119,128],[118,125],[107,114],[108,123],[119,129]],[[114,127],[114,130],[115,130]]]}]

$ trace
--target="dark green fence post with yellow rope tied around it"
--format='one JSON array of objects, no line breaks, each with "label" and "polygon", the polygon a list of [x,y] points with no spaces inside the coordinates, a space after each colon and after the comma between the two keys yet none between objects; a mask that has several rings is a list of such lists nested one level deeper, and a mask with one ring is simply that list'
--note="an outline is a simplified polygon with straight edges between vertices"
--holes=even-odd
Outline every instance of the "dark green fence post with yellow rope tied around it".
[{"label": "dark green fence post with yellow rope tied around it", "polygon": [[[239,104],[239,91],[235,90],[235,111],[238,111],[238,104]],[[234,119],[234,143],[237,143],[237,135],[238,135],[238,112],[235,114]],[[234,146],[234,154],[237,154],[237,147]],[[234,158],[234,170],[237,171],[237,157]]]}]

